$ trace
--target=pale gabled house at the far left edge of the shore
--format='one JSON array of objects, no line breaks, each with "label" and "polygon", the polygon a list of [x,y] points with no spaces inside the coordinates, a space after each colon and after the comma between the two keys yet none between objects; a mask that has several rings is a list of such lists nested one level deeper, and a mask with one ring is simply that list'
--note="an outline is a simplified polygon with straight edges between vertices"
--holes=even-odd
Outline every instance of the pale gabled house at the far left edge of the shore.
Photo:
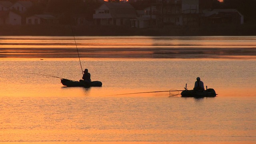
[{"label": "pale gabled house at the far left edge of the shore", "polygon": [[0,11],[0,25],[21,25],[21,16],[11,11]]}]

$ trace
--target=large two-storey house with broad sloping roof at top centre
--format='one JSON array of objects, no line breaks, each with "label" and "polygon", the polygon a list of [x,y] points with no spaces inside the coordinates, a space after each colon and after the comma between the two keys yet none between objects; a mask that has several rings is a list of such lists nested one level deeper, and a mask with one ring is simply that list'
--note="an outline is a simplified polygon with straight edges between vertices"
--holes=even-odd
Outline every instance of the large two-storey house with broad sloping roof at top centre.
[{"label": "large two-storey house with broad sloping roof at top centre", "polygon": [[135,8],[128,2],[103,2],[93,14],[96,25],[129,25],[137,17]]}]

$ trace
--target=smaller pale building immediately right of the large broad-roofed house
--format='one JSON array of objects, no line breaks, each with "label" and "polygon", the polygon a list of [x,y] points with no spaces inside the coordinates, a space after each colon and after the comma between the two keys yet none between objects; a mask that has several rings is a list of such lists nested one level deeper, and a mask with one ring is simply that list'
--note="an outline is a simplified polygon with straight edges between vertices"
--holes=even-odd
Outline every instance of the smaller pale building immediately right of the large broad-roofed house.
[{"label": "smaller pale building immediately right of the large broad-roofed house", "polygon": [[137,18],[132,19],[132,27],[148,28],[156,25],[156,6],[150,6],[144,10],[136,10]]}]

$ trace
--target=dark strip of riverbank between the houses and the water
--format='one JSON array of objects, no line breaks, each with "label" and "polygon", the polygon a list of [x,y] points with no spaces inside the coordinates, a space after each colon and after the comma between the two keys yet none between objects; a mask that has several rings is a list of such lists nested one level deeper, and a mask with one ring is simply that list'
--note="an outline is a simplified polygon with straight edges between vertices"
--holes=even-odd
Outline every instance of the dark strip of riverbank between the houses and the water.
[{"label": "dark strip of riverbank between the houses and the water", "polygon": [[21,25],[0,27],[0,36],[255,36],[256,24],[212,26],[125,26]]}]

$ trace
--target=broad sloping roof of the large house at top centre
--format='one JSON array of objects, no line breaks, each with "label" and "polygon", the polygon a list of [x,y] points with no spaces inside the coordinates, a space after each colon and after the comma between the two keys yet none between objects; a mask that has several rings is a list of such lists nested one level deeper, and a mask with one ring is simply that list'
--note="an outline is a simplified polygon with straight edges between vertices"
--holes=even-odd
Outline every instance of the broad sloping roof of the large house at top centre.
[{"label": "broad sloping roof of the large house at top centre", "polygon": [[136,18],[135,8],[128,2],[104,2],[113,18]]}]

